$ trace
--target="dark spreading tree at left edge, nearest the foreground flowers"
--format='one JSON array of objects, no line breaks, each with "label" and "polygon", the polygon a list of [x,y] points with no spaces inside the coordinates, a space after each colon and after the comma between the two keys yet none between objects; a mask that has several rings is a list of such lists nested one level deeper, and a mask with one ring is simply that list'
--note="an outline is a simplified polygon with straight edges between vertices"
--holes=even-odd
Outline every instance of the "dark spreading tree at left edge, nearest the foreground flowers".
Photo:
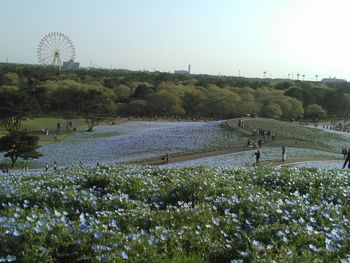
[{"label": "dark spreading tree at left edge, nearest the foreground flowers", "polygon": [[0,138],[0,152],[11,159],[12,167],[18,158],[25,160],[42,156],[37,152],[39,138],[28,134],[27,131],[12,131]]}]

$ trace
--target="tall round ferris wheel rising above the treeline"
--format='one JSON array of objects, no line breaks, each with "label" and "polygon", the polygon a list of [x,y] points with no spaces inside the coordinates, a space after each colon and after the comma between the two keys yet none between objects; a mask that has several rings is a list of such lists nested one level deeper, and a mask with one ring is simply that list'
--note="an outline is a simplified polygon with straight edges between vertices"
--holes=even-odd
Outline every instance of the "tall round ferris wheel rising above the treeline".
[{"label": "tall round ferris wheel rising above the treeline", "polygon": [[37,55],[41,65],[61,67],[63,62],[75,59],[75,47],[65,34],[53,32],[41,39]]}]

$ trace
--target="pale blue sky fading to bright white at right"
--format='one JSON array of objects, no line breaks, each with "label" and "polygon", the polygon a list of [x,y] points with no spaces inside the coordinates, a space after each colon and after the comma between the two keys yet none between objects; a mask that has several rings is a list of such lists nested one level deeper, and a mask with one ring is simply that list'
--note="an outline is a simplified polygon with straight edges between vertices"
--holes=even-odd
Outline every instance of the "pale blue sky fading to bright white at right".
[{"label": "pale blue sky fading to bright white at right", "polygon": [[350,80],[349,0],[0,0],[0,62],[50,32],[89,66]]}]

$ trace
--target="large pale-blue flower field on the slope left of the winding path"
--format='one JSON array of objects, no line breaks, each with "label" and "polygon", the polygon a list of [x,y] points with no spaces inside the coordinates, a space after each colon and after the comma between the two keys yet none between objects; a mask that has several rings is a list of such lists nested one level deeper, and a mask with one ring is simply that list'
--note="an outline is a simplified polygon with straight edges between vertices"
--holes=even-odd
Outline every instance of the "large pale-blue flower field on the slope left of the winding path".
[{"label": "large pale-blue flower field on the slope left of the winding path", "polygon": [[36,165],[57,161],[59,165],[121,163],[159,157],[165,153],[188,153],[243,145],[245,139],[217,122],[130,121],[101,125],[94,132],[78,131],[39,149]]}]

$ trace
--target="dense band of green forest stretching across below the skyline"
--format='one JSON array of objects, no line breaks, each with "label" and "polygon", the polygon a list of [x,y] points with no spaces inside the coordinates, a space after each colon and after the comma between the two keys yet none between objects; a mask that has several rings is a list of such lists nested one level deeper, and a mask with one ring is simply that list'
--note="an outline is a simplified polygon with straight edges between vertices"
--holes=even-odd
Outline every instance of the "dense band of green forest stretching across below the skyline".
[{"label": "dense band of green forest stretching across below the skyline", "polygon": [[[0,115],[348,118],[349,83],[0,64]],[[11,120],[12,122],[14,120]]]}]

